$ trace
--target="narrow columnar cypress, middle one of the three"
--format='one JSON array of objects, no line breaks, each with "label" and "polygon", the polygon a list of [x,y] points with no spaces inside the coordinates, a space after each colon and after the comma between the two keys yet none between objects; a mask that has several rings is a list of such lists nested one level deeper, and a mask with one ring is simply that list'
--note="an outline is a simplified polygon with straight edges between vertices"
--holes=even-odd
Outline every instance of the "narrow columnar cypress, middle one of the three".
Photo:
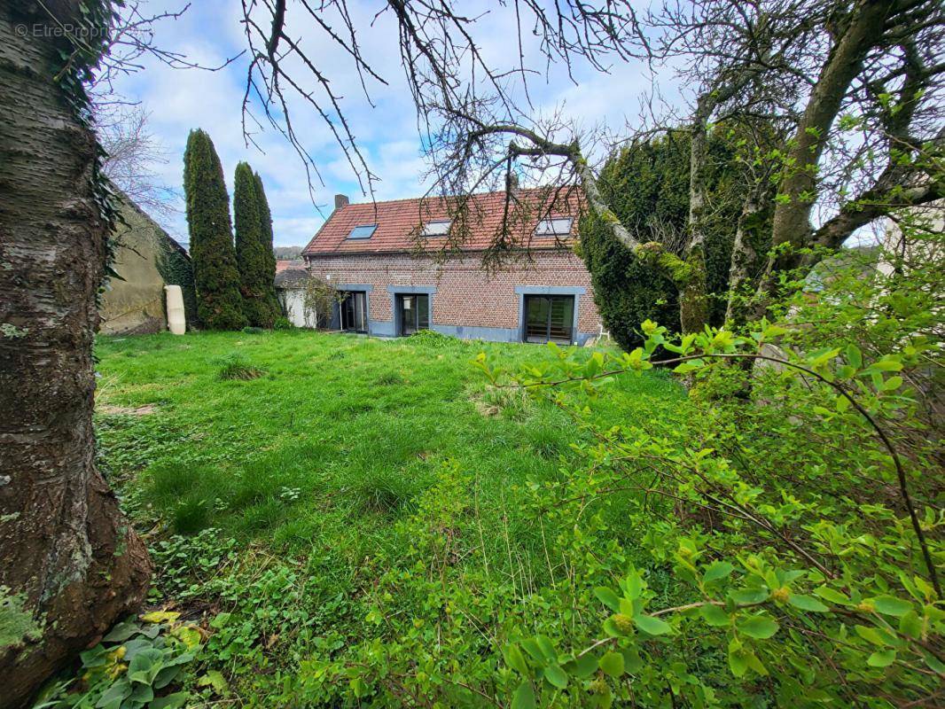
[{"label": "narrow columnar cypress, middle one of the three", "polygon": [[[272,327],[278,311],[271,248],[263,234],[258,183],[249,164],[236,165],[233,182],[233,220],[236,225],[236,264],[239,267],[243,312],[251,325]],[[271,293],[271,299],[270,299]]]}]

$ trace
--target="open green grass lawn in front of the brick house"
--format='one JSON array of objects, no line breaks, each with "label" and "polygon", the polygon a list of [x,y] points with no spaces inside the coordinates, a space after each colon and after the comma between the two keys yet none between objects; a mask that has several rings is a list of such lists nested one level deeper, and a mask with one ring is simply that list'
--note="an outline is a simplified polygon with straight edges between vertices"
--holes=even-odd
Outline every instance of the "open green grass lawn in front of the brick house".
[{"label": "open green grass lawn in front of the brick house", "polygon": [[[143,527],[219,527],[291,552],[351,560],[397,544],[392,521],[455,461],[479,503],[513,510],[515,486],[555,476],[576,431],[516,389],[489,389],[471,365],[514,367],[547,348],[313,332],[109,338],[96,344],[103,467]],[[236,366],[257,378],[225,378]],[[611,421],[648,417],[679,396],[668,378],[627,377],[595,403]],[[496,524],[498,513],[490,515]]]}]

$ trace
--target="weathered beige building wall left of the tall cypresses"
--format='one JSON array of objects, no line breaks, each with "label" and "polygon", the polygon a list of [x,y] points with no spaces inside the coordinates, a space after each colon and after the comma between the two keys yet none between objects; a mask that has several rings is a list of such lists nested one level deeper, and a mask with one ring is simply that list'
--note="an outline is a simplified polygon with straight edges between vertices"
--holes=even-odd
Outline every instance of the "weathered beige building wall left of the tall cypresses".
[{"label": "weathered beige building wall left of the tall cypresses", "polygon": [[99,305],[99,332],[139,335],[167,329],[164,285],[180,285],[187,326],[197,321],[194,271],[187,251],[134,202],[119,195],[124,223],[115,227],[118,240],[112,277]]}]

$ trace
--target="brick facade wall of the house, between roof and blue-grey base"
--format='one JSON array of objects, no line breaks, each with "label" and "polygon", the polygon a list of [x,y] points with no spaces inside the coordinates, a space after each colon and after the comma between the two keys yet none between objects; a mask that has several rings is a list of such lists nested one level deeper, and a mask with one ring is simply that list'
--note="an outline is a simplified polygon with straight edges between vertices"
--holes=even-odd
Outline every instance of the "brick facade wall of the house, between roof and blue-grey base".
[{"label": "brick facade wall of the house, between roof and blue-grey base", "polygon": [[332,284],[372,285],[370,320],[391,322],[388,286],[433,286],[432,323],[465,327],[518,329],[521,296],[516,286],[583,287],[577,300],[577,330],[596,334],[600,319],[593,304],[591,275],[568,251],[532,251],[532,262],[507,265],[487,274],[482,254],[465,253],[438,265],[432,258],[407,253],[311,256],[312,272]]}]

